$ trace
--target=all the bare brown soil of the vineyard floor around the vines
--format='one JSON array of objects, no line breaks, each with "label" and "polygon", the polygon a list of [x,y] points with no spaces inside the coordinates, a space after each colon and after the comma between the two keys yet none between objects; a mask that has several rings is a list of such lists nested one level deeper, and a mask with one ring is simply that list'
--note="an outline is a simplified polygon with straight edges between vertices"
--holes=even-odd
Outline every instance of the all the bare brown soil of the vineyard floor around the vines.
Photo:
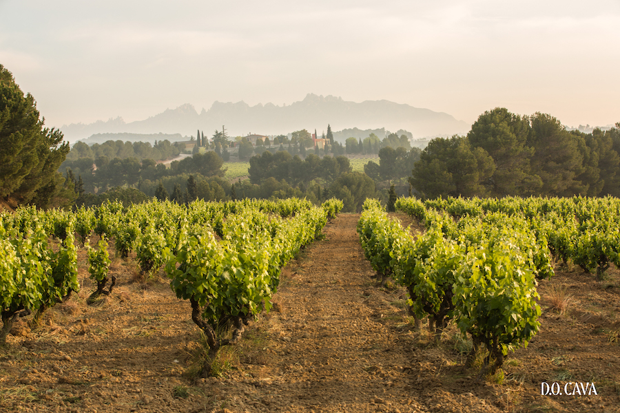
[{"label": "all the bare brown soil of the vineyard floor around the vines", "polygon": [[[0,350],[0,411],[620,412],[617,268],[596,282],[557,267],[539,284],[541,331],[478,381],[454,326],[435,344],[413,328],[405,291],[378,287],[358,219],[340,215],[284,269],[271,313],[220,352],[209,379],[192,375],[200,334],[165,278],[138,282],[131,256],[114,260],[118,286],[87,306],[81,253],[82,292],[37,328],[17,324]],[[555,381],[594,382],[598,395],[541,396]]]}]

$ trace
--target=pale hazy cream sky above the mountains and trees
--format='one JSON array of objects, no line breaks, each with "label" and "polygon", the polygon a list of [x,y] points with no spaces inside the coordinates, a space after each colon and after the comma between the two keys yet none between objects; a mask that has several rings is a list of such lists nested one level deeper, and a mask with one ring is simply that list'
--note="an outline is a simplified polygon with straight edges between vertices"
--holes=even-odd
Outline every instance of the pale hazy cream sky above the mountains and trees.
[{"label": "pale hazy cream sky above the mountains and trees", "polygon": [[307,93],[603,126],[620,1],[0,0],[0,63],[50,127]]}]

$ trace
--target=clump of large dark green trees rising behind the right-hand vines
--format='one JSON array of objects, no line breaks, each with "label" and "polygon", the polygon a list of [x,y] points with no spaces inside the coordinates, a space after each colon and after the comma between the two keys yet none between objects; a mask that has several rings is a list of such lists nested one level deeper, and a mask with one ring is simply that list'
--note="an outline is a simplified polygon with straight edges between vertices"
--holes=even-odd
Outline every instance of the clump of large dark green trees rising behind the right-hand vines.
[{"label": "clump of large dark green trees rising behind the right-hand vines", "polygon": [[435,138],[409,181],[420,195],[620,196],[620,123],[568,131],[539,112],[484,112],[466,136]]}]

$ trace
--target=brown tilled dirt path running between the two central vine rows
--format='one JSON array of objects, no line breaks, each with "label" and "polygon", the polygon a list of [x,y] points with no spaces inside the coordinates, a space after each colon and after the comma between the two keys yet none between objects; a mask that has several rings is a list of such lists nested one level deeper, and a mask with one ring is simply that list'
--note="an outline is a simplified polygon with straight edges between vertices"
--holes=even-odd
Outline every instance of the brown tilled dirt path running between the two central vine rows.
[{"label": "brown tilled dirt path running between the two central vine rows", "polygon": [[407,352],[382,323],[394,316],[394,308],[373,288],[373,271],[355,233],[358,219],[344,214],[327,226],[327,240],[309,248],[276,295],[281,312],[267,321],[269,350],[276,357],[254,396],[260,401],[256,410],[408,412],[417,407],[406,391]]}]

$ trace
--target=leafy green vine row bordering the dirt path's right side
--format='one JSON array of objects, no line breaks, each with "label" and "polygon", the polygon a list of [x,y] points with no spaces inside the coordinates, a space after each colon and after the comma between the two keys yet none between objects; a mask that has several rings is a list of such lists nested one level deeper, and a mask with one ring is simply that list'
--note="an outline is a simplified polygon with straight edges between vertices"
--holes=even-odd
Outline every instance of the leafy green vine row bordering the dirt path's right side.
[{"label": "leafy green vine row bordering the dirt path's right side", "polygon": [[378,202],[368,200],[358,223],[362,247],[373,267],[406,286],[415,315],[431,316],[436,337],[448,319],[455,319],[473,339],[472,354],[482,344],[488,349],[483,372],[492,358],[495,372],[508,349],[526,346],[539,328],[535,275],[552,275],[546,236],[530,233],[530,223],[518,214],[483,215],[461,198],[427,203],[479,214],[455,223],[419,200],[400,198],[396,206],[426,224],[426,233],[413,240]]}]

